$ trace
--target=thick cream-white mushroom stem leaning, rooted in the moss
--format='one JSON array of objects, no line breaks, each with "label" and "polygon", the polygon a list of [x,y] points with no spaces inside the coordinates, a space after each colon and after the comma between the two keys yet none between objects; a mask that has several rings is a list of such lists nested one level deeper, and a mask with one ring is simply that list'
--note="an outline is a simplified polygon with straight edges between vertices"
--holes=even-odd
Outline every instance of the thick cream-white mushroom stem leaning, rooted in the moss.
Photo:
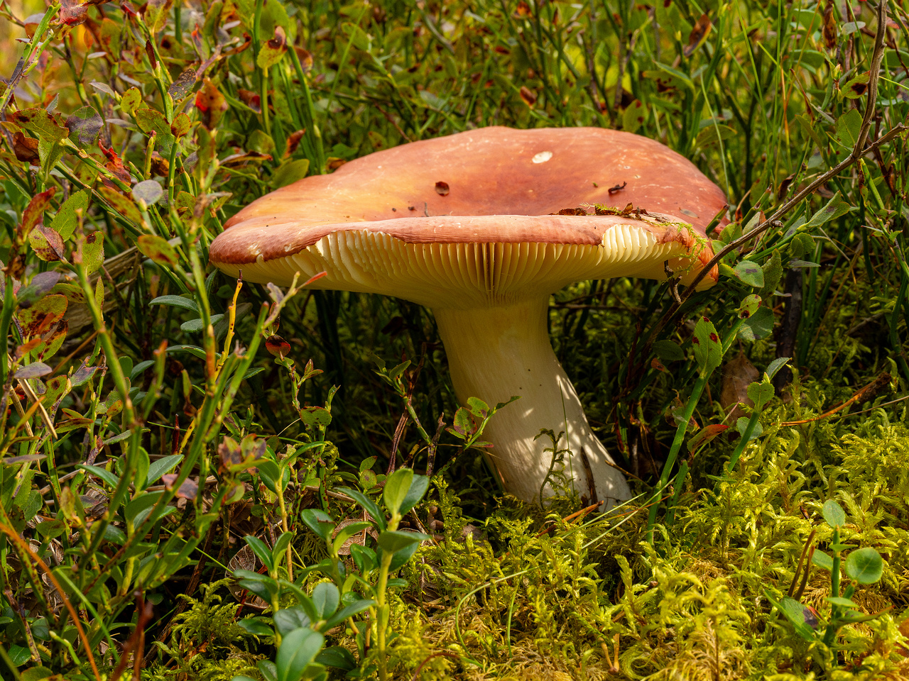
[{"label": "thick cream-white mushroom stem leaning, rooted in the moss", "polygon": [[[546,331],[548,302],[544,295],[486,308],[436,308],[454,391],[462,404],[477,397],[491,407],[521,397],[490,419],[482,438],[494,445],[487,459],[506,492],[539,503],[553,456],[544,449],[551,448],[552,441],[534,437],[540,429],[556,435],[564,430],[567,439],[559,440],[558,448],[570,449],[565,477],[590,498],[592,476],[597,499],[609,508],[631,498],[631,490],[611,466],[613,459],[590,429],[581,400],[555,359]],[[547,484],[544,496],[552,494]]]}]

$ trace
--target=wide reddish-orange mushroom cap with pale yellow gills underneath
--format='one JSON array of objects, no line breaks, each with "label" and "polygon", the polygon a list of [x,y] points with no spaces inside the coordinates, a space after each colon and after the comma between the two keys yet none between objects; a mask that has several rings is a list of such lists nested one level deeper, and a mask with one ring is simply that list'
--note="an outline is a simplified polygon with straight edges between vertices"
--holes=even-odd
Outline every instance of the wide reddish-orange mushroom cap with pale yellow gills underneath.
[{"label": "wide reddish-orange mushroom cap with pale yellow gills underneath", "polygon": [[[553,214],[628,203],[644,214]],[[247,281],[326,271],[315,287],[471,306],[581,279],[662,279],[667,260],[690,280],[713,256],[704,230],[725,206],[693,163],[639,135],[487,127],[271,192],[225,223],[209,258]]]}]

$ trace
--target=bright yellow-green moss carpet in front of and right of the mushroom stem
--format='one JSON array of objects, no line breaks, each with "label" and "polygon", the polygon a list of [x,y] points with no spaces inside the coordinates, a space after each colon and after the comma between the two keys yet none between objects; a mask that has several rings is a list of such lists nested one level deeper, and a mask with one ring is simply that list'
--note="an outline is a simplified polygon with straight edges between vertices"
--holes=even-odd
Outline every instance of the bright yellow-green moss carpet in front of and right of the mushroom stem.
[{"label": "bright yellow-green moss carpet in front of and right of the mushroom stem", "polygon": [[[800,404],[767,411],[764,437],[728,479],[683,494],[674,526],[657,528],[654,547],[640,511],[576,525],[557,514],[543,522],[507,500],[484,538],[462,538],[456,498],[443,484],[445,539],[420,554],[432,605],[411,600],[415,587],[396,611],[402,677],[424,660],[425,678],[904,677],[897,624],[907,619],[909,429],[884,410],[861,425],[774,425],[823,410],[826,390],[805,386]],[[722,461],[729,445],[714,442],[706,460]],[[819,520],[828,498],[846,509],[844,541],[877,548],[887,561],[882,582],[860,587],[855,603],[869,614],[891,608],[844,627],[835,656],[797,637],[764,594],[785,594],[813,531],[820,548],[830,541]],[[829,588],[828,573],[812,568],[802,600],[822,617]],[[464,662],[432,657],[439,651]]]}]

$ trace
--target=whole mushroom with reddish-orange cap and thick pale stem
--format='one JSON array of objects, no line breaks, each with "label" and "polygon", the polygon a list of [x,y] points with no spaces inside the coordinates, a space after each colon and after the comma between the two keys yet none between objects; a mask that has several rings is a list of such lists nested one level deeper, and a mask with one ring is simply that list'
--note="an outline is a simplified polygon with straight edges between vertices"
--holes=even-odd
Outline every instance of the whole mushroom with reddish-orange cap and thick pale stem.
[{"label": "whole mushroom with reddish-orange cap and thick pale stem", "polygon": [[[594,210],[629,204],[645,210]],[[504,490],[532,502],[552,494],[551,443],[534,438],[564,431],[564,476],[608,508],[631,492],[555,358],[549,296],[573,281],[665,279],[667,264],[691,281],[713,255],[705,228],[725,206],[694,164],[638,135],[487,127],[272,192],[225,223],[209,257],[246,281],[288,285],[297,271],[325,271],[315,287],[432,309],[458,400],[521,397],[484,432]]]}]

